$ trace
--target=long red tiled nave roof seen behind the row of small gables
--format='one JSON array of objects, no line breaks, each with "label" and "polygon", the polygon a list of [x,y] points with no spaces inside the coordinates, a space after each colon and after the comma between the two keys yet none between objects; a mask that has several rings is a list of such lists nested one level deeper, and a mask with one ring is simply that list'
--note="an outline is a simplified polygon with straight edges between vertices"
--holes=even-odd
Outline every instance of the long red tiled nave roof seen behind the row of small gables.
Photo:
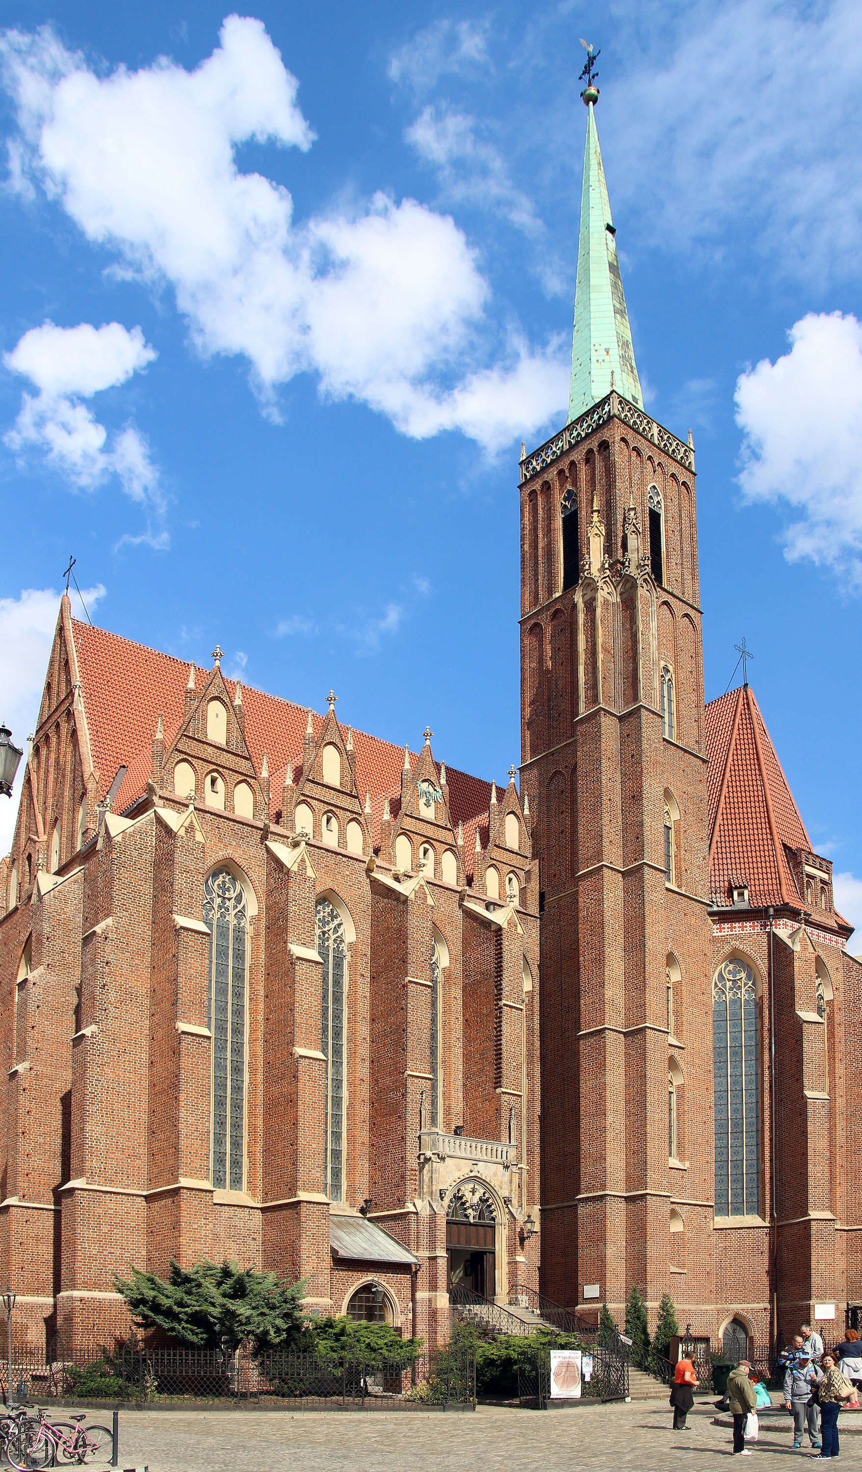
[{"label": "long red tiled nave roof seen behind the row of small gables", "polygon": [[[107,792],[119,767],[128,767],[119,789],[113,811],[124,813],[147,790],[152,767],[152,740],[156,721],[162,715],[165,745],[177,736],[185,718],[185,687],[188,684],[188,661],[175,659],[159,649],[124,639],[121,634],[96,629],[91,624],[72,620],[81,695],[87,714],[87,727],[93,751],[93,764],[99,773],[100,792]],[[203,689],[210,671],[196,668],[197,689]],[[237,682],[225,680],[231,699],[237,693]],[[294,780],[302,771],[303,736],[307,723],[307,708],[266,695],[243,684],[243,707],[246,711],[246,742],[259,773],[263,752],[271,777],[271,818],[281,807],[281,789],[287,762],[294,765]],[[312,712],[315,740],[321,735],[324,717]],[[356,752],[356,786],[363,798],[371,792],[374,842],[380,843],[380,821],[384,799],[400,801],[405,749],[391,742],[353,730]],[[419,757],[410,752],[410,767],[415,771]],[[471,777],[447,765],[449,804],[452,821],[463,823],[465,845],[474,843],[477,823],[484,824],[487,841],[487,814],[491,783]]]}]

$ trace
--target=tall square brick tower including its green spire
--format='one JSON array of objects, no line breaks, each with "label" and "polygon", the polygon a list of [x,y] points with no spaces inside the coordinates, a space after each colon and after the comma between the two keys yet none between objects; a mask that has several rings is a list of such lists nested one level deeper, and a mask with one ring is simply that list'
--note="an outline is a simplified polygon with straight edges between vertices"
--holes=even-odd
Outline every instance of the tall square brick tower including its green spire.
[{"label": "tall square brick tower including its green spire", "polygon": [[683,1313],[713,1284],[712,1130],[685,1119],[687,1078],[712,1097],[706,757],[694,449],[643,408],[591,78],[581,96],[569,421],[521,461],[522,788],[543,1291],[619,1319],[633,1284]]}]

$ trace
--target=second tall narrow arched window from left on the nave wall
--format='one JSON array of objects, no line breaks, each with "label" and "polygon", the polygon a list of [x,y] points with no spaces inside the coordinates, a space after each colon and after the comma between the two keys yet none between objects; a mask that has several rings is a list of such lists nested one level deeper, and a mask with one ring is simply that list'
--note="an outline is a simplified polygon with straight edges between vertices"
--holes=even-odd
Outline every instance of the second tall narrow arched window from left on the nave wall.
[{"label": "second tall narrow arched window from left on the nave wall", "polygon": [[321,1052],[327,1058],[327,1100],[324,1108],[324,1191],[330,1201],[344,1192],[344,991],[347,946],[344,921],[335,905],[318,899],[315,905],[318,955],[322,966]]}]

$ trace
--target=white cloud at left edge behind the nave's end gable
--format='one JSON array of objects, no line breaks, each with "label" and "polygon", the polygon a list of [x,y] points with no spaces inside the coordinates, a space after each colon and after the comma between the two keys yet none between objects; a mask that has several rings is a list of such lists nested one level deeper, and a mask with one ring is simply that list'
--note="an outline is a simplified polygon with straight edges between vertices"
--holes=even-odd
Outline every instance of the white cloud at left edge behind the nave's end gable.
[{"label": "white cloud at left edge behind the nave's end gable", "polygon": [[[72,611],[76,618],[84,615],[81,599],[72,593]],[[93,612],[104,587],[84,589],[84,604]],[[0,598],[0,720],[12,730],[12,740],[24,749],[18,767],[12,801],[0,796],[0,854],[7,854],[12,845],[18,801],[26,761],[26,737],[35,729],[46,667],[60,595],[53,587],[22,592],[21,598]]]}]

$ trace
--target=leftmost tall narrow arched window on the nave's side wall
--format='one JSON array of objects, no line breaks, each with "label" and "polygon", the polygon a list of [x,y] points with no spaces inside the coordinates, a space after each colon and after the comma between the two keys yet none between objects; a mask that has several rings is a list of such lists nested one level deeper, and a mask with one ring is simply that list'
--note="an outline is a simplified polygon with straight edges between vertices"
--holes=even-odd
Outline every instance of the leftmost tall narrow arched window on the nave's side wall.
[{"label": "leftmost tall narrow arched window on the nave's side wall", "polygon": [[246,1170],[246,892],[227,868],[206,880],[207,1026],[212,1032],[212,1183],[241,1191]]}]

